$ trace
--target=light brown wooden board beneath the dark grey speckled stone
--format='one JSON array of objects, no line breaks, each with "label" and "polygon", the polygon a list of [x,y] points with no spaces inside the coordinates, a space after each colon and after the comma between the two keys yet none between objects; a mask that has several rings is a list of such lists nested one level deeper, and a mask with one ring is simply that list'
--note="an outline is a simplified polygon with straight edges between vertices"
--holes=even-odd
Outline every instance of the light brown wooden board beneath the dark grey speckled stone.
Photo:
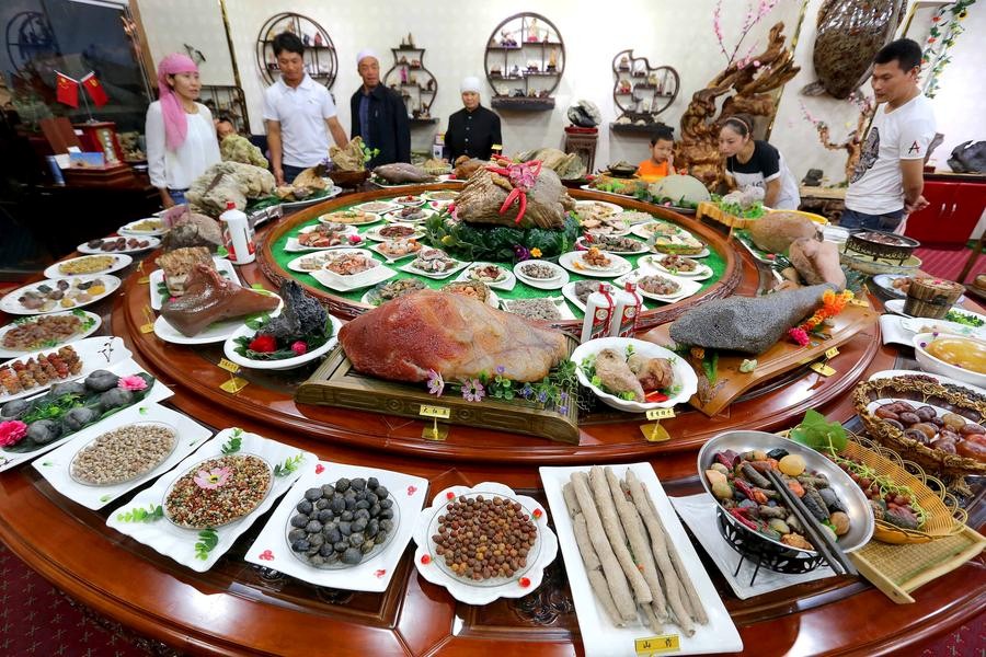
[{"label": "light brown wooden board beneath the dark grey speckled stone", "polygon": [[[747,358],[753,358],[752,356],[722,353],[719,356],[718,388],[712,399],[703,403],[699,395],[695,394],[688,403],[712,417],[747,390],[809,362],[822,360],[826,350],[849,342],[857,333],[874,324],[878,316],[878,313],[870,307],[848,304],[841,313],[833,319],[835,326],[829,330],[830,337],[828,339],[819,341],[812,336],[812,344],[799,347],[787,337],[782,338],[756,356],[757,368],[748,374],[741,372],[740,366]],[[642,337],[657,344],[668,344],[670,343],[669,330],[670,324],[664,324]],[[703,376],[701,372],[697,373],[699,377]]]}]

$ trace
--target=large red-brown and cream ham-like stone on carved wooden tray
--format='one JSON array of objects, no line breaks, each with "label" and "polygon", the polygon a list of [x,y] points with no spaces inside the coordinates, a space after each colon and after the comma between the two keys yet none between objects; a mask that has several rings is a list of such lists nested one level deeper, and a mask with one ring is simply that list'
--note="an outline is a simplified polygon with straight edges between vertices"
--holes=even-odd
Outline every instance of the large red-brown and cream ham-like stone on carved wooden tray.
[{"label": "large red-brown and cream ham-like stone on carved wooden tray", "polygon": [[540,381],[567,358],[565,336],[459,295],[421,290],[359,315],[339,332],[353,367],[394,381],[491,374]]}]

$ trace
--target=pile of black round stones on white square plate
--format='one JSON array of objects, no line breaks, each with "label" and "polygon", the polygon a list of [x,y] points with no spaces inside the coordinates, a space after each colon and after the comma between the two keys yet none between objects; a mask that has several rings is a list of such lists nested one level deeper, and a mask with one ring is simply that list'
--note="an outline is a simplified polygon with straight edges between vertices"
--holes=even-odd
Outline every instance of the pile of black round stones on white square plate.
[{"label": "pile of black round stones on white square plate", "polygon": [[393,497],[374,476],[309,488],[295,509],[288,543],[316,567],[355,566],[397,529]]}]

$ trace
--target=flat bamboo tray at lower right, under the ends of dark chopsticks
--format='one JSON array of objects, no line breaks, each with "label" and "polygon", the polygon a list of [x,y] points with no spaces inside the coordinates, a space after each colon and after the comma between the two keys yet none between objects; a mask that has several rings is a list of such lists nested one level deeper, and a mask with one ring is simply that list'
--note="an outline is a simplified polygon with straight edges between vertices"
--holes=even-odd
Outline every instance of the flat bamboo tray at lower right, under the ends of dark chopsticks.
[{"label": "flat bamboo tray at lower right, under the ends of dark chopsticks", "polygon": [[910,592],[975,558],[986,538],[966,526],[954,535],[914,545],[871,541],[849,554],[870,583],[897,604],[914,602]]}]

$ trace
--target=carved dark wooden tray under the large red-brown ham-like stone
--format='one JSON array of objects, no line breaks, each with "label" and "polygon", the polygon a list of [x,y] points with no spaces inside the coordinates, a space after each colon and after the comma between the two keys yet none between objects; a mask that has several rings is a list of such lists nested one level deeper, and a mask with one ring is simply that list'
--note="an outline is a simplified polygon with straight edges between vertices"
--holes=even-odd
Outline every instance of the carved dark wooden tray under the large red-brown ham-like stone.
[{"label": "carved dark wooden tray under the large red-brown ham-like stone", "polygon": [[[572,337],[567,342],[571,355],[577,342]],[[569,394],[572,401],[566,415],[540,408],[523,399],[506,401],[484,397],[481,402],[467,402],[457,394],[436,397],[428,394],[424,383],[414,385],[386,381],[357,372],[342,345],[336,345],[308,381],[298,387],[295,401],[415,418],[421,418],[422,405],[443,406],[449,410],[450,416],[442,423],[578,445],[577,393],[572,390]]]}]

